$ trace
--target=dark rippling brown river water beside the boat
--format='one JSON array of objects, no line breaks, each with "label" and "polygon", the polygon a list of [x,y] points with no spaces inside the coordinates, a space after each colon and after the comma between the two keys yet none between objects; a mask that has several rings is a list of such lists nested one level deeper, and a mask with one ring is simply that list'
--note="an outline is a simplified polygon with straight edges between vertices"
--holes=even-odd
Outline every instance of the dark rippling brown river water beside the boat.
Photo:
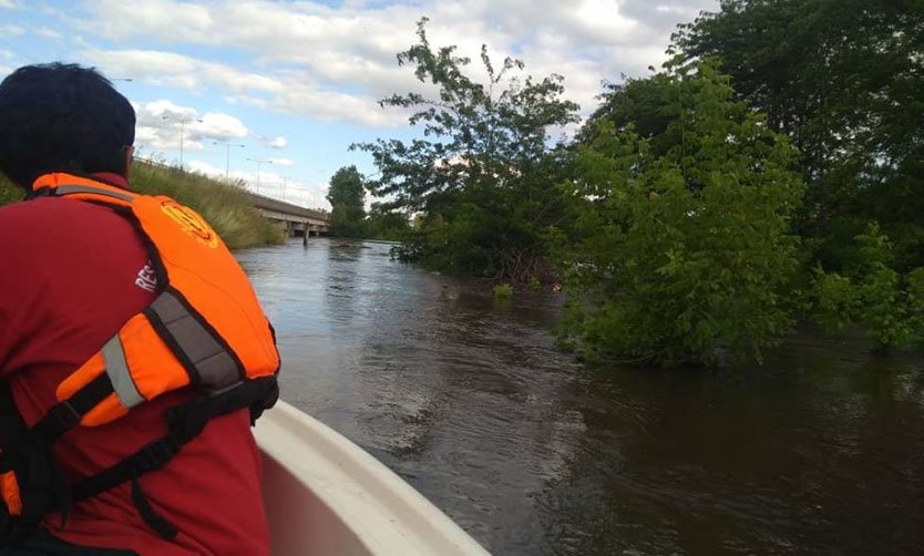
[{"label": "dark rippling brown river water beside the boat", "polygon": [[311,238],[238,253],[283,398],[494,554],[924,554],[924,358],[794,334],[737,371],[586,369],[552,292]]}]

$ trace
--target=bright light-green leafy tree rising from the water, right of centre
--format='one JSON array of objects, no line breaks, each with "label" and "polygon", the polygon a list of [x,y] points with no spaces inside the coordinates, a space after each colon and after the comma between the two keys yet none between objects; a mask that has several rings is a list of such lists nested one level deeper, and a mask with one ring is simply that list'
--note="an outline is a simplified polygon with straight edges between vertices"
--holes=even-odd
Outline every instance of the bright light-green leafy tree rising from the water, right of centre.
[{"label": "bright light-green leafy tree rising from the water, right of centre", "polygon": [[582,131],[565,184],[575,225],[556,237],[558,334],[585,357],[759,359],[791,326],[797,152],[732,94],[710,64],[634,80]]}]

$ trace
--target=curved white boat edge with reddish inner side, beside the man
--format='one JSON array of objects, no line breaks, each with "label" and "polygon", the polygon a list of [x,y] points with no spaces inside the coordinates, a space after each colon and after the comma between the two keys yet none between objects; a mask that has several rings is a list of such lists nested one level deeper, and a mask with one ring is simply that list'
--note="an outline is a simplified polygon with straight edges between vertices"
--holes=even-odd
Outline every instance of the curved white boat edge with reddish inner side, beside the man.
[{"label": "curved white boat edge with reddish inner side, beside the man", "polygon": [[381,462],[288,403],[254,434],[274,555],[487,554]]}]

